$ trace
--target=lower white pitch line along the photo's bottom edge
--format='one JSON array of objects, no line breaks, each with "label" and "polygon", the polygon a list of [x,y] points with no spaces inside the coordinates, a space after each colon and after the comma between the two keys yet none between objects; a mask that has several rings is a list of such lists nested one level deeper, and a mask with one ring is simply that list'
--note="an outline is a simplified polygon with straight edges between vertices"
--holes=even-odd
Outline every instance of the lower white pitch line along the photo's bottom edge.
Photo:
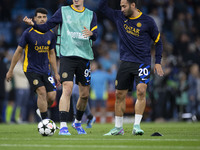
[{"label": "lower white pitch line along the photo's bottom edge", "polygon": [[125,145],[42,145],[42,144],[0,144],[0,147],[46,147],[46,148],[112,148],[112,149],[200,149],[200,146],[125,146]]}]

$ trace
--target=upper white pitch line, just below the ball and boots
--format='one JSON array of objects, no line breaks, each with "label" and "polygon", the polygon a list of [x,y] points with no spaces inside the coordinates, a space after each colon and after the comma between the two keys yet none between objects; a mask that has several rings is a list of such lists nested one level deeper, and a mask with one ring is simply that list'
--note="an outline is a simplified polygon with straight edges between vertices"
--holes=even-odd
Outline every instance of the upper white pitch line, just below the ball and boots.
[{"label": "upper white pitch line, just below the ball and boots", "polygon": [[[200,139],[163,139],[163,138],[159,138],[159,139],[135,139],[135,138],[132,138],[132,139],[107,139],[107,138],[95,138],[95,139],[91,139],[91,138],[51,138],[51,137],[47,137],[48,140],[51,140],[51,141],[65,141],[65,140],[68,140],[68,141],[176,141],[176,142],[198,142],[200,141]],[[46,140],[46,138],[44,137],[43,139],[41,138],[20,138],[21,140],[25,140],[25,141],[29,141],[29,140]],[[19,140],[18,138],[0,138],[0,140]]]}]

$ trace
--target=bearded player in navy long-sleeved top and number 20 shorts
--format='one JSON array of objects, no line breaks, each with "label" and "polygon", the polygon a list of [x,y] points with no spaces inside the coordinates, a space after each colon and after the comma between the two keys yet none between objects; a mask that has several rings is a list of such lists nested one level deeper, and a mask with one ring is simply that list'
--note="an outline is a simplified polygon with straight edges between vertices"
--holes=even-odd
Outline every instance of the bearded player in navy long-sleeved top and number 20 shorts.
[{"label": "bearded player in navy long-sleeved top and number 20 shorts", "polygon": [[125,97],[136,81],[134,135],[143,135],[140,122],[146,106],[146,89],[150,78],[151,42],[156,48],[154,72],[163,76],[161,67],[162,42],[155,21],[137,9],[137,0],[121,0],[121,11],[108,7],[107,0],[99,3],[100,11],[113,21],[120,37],[121,64],[116,78],[115,128],[104,135],[123,135]]}]

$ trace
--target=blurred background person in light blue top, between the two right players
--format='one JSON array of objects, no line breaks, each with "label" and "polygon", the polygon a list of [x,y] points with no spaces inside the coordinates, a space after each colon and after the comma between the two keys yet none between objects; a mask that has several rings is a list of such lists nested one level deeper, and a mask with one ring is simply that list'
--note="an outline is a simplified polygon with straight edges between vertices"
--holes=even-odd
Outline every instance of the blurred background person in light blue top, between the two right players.
[{"label": "blurred background person in light blue top, between the two right players", "polygon": [[93,61],[91,63],[91,90],[90,102],[91,111],[97,116],[97,109],[100,108],[101,123],[106,122],[106,100],[108,99],[108,82],[116,78],[116,67],[112,67],[112,72],[108,73],[101,69],[101,65]]}]

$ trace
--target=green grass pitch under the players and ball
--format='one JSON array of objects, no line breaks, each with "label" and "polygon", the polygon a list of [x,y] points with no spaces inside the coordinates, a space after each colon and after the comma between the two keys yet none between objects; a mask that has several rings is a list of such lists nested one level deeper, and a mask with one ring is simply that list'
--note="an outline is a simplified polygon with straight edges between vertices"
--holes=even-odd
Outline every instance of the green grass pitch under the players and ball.
[{"label": "green grass pitch under the players and ball", "polygon": [[[37,124],[0,124],[0,150],[200,150],[200,123],[142,123],[143,136],[134,136],[132,124],[124,124],[123,136],[103,136],[114,124],[94,124],[87,135],[42,137]],[[83,127],[85,128],[85,124]],[[151,136],[159,132],[163,136]]]}]

